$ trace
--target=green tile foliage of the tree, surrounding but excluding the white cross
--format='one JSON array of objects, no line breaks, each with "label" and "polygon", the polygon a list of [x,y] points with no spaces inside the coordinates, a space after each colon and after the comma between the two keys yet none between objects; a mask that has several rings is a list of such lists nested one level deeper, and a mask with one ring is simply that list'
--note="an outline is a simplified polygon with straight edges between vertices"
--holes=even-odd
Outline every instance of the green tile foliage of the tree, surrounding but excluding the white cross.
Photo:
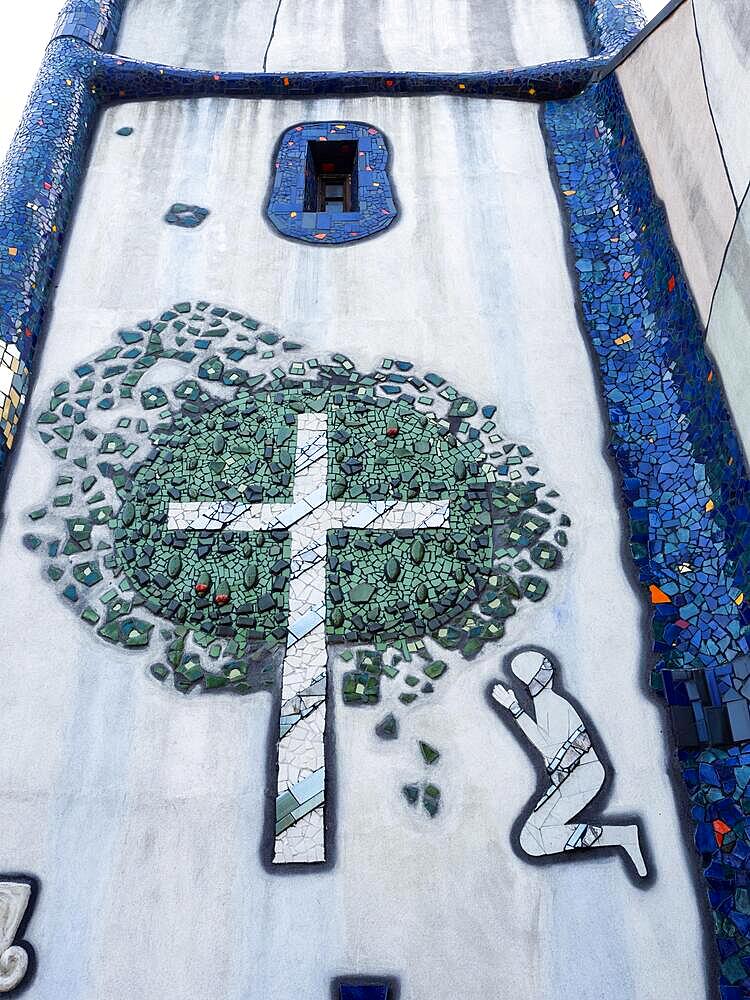
[{"label": "green tile foliage of the tree, surrounding but excluding the white cross", "polygon": [[[27,547],[87,626],[148,647],[151,674],[179,690],[273,683],[290,552],[282,531],[172,530],[169,502],[291,502],[305,411],[328,414],[329,499],[450,501],[444,528],[328,533],[329,642],[405,652],[430,639],[470,659],[560,564],[570,519],[495,407],[405,361],[361,373],[299,350],[243,313],[182,302],[77,365],[38,415],[58,486],[29,512]],[[432,685],[413,688],[402,701]]]}]

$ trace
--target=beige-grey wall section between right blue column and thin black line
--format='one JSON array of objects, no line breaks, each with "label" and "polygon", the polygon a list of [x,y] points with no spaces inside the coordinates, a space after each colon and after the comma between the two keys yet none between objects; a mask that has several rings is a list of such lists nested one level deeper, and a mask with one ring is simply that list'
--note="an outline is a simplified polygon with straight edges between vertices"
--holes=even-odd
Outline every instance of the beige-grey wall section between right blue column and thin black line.
[{"label": "beige-grey wall section between right blue column and thin black line", "polygon": [[678,7],[617,77],[705,322],[736,209],[711,121],[691,4]]}]

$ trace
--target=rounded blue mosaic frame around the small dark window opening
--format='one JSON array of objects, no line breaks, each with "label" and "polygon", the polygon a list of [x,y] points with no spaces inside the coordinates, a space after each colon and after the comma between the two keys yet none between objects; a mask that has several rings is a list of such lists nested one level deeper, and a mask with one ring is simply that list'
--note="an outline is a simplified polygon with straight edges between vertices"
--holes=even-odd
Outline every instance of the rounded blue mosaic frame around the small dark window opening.
[{"label": "rounded blue mosaic frame around the small dark window opening", "polygon": [[[357,144],[354,186],[357,210],[306,212],[308,143]],[[367,122],[303,122],[287,129],[274,160],[274,182],[266,212],[283,235],[320,246],[351,243],[382,232],[398,216],[388,176],[390,150],[383,133]]]}]

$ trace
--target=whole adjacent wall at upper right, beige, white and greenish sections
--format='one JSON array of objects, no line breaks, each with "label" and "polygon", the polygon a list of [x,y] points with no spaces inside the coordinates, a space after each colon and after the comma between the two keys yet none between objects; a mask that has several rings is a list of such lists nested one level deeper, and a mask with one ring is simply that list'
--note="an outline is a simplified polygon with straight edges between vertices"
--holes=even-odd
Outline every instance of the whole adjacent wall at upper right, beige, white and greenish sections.
[{"label": "whole adjacent wall at upper right, beige, white and greenish sections", "polygon": [[750,452],[746,0],[685,0],[617,76]]}]

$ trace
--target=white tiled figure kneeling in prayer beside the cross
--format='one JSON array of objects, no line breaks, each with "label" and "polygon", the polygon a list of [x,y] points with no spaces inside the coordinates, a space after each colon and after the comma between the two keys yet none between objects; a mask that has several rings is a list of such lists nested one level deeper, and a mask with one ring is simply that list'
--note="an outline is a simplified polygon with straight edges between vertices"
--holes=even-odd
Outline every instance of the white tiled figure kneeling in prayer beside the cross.
[{"label": "white tiled figure kneeling in prayer beside the cross", "polygon": [[644,877],[648,873],[636,824],[571,822],[602,790],[606,772],[580,715],[554,690],[552,660],[538,650],[525,650],[513,655],[510,669],[526,688],[533,715],[521,707],[513,690],[499,682],[492,697],[541,754],[549,780],[521,828],[521,849],[538,858],[584,848],[619,847]]}]

